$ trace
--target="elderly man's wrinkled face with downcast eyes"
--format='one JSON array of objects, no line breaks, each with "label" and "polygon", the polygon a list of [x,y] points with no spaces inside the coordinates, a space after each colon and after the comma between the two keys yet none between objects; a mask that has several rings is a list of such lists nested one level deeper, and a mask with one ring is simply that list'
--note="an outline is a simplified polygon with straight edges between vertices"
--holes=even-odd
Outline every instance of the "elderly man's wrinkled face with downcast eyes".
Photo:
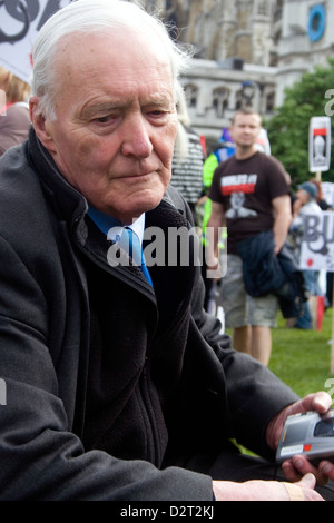
[{"label": "elderly man's wrinkled face with downcast eyes", "polygon": [[[156,207],[177,132],[166,51],[148,36],[71,36],[58,49],[56,120],[32,121],[62,176],[122,223]],[[41,121],[43,120],[43,121]]]}]

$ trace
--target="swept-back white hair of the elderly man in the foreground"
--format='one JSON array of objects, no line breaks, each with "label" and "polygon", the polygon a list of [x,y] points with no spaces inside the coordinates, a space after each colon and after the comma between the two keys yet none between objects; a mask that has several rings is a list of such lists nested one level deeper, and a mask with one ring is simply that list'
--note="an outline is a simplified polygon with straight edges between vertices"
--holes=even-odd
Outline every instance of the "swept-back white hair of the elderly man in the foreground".
[{"label": "swept-back white hair of the elderly man in the foreground", "polygon": [[135,3],[125,0],[76,0],[57,11],[39,31],[32,49],[32,95],[40,98],[40,110],[56,118],[53,95],[57,90],[57,48],[60,40],[75,33],[109,33],[124,28],[155,34],[170,60],[176,101],[183,90],[181,70],[187,67],[190,53],[169,37],[166,26]]}]

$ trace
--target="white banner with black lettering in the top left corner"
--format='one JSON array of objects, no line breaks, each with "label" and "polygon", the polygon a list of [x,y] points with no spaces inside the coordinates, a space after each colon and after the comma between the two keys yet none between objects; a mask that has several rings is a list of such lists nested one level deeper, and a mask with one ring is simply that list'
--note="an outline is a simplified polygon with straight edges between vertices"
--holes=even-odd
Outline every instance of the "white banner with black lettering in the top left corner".
[{"label": "white banner with black lettering in the top left corner", "polygon": [[0,66],[31,82],[31,50],[43,23],[71,0],[0,0]]}]

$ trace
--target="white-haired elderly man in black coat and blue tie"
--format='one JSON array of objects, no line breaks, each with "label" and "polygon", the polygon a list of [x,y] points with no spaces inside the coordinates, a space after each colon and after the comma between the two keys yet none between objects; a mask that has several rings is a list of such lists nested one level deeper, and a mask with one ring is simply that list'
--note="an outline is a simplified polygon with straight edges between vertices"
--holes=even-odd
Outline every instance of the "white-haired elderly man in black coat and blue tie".
[{"label": "white-haired elderly man in black coat and blue tie", "polygon": [[127,226],[190,227],[168,188],[181,62],[119,0],[73,2],[37,38],[33,129],[0,168],[2,500],[318,500],[307,473],[334,477],[297,456],[297,484],[259,482],[230,446],[273,458],[286,416],[331,397],[299,399],[233,351],[195,262],[150,280],[122,247],[111,263]]}]

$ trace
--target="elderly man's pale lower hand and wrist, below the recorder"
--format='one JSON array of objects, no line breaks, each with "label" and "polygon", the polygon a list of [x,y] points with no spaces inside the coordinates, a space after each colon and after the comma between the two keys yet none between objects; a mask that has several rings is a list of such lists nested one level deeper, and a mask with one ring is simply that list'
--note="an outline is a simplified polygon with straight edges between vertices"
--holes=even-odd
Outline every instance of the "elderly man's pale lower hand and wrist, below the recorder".
[{"label": "elderly man's pale lower hand and wrist, below the recorder", "polygon": [[216,501],[324,501],[314,490],[312,474],[294,484],[254,480],[245,483],[214,481],[213,485]]}]

